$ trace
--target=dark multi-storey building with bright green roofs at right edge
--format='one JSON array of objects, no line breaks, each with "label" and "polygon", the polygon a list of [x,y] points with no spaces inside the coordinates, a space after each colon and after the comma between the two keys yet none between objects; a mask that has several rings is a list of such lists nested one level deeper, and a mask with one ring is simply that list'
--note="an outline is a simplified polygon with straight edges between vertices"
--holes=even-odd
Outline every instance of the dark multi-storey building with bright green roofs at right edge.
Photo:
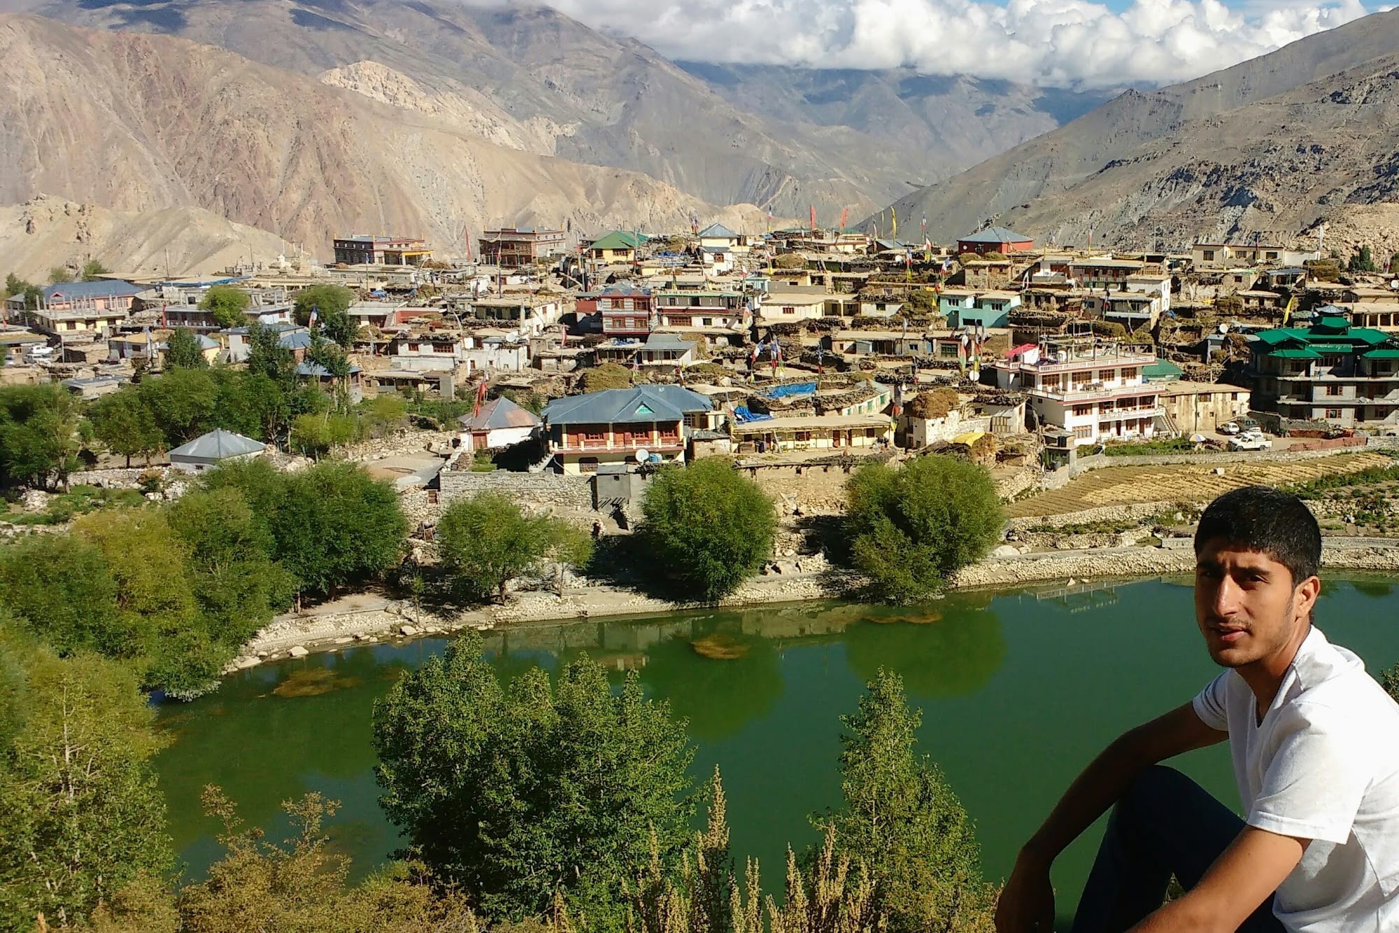
[{"label": "dark multi-storey building with bright green roofs at right edge", "polygon": [[1307,328],[1260,331],[1249,350],[1259,410],[1339,427],[1399,427],[1399,340],[1393,335],[1323,314]]}]

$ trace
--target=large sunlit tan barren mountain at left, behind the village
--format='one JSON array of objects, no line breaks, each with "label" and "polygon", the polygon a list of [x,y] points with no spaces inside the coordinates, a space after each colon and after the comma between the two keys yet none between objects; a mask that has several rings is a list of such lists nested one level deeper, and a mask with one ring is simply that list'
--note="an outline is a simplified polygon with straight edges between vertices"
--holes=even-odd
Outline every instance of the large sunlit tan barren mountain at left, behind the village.
[{"label": "large sunlit tan barren mountain at left, behind the village", "polygon": [[[360,71],[382,78],[381,97],[411,87]],[[319,251],[350,230],[421,233],[453,252],[463,231],[497,223],[662,230],[698,216],[754,230],[764,217],[639,172],[487,141],[456,111],[31,15],[0,17],[0,203],[50,192],[122,212],[201,207]]]}]

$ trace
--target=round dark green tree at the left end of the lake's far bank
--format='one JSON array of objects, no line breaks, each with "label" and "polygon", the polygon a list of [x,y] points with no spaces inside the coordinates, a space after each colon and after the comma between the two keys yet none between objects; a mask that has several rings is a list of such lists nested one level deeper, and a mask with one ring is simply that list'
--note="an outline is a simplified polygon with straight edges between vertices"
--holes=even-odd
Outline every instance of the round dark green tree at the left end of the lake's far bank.
[{"label": "round dark green tree at the left end of the lake's far bank", "polygon": [[407,520],[393,486],[354,464],[292,474],[271,517],[277,560],[316,593],[362,581],[397,563]]}]

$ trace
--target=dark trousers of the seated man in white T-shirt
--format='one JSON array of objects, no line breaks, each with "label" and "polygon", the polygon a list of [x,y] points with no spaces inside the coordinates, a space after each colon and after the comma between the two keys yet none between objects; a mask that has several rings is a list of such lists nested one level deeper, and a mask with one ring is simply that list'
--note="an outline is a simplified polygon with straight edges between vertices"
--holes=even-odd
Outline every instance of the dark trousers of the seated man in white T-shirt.
[{"label": "dark trousers of the seated man in white T-shirt", "polygon": [[[1130,929],[1161,906],[1172,874],[1189,891],[1242,829],[1238,815],[1181,772],[1149,769],[1112,808],[1073,933]],[[1238,929],[1281,933],[1273,898]]]}]

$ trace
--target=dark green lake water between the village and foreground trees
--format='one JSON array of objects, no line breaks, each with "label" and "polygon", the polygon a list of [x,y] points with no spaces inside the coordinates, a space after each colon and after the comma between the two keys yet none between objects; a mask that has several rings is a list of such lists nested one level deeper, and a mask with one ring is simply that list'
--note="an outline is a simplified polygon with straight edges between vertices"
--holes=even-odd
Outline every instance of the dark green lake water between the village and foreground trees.
[{"label": "dark green lake water between the village and foreground trees", "polygon": [[[1391,581],[1328,581],[1316,611],[1333,642],[1371,672],[1399,661],[1399,595]],[[741,646],[713,660],[693,642]],[[355,874],[399,845],[379,811],[369,714],[406,668],[442,639],[357,646],[235,674],[217,693],[166,705],[175,742],[159,761],[175,843],[192,876],[218,856],[200,790],[220,785],[242,817],[285,835],[278,804],[308,790],[340,800],[333,845]],[[502,674],[588,653],[638,670],[646,689],[690,720],[694,769],[718,763],[729,797],[733,852],[757,856],[765,887],[781,883],[786,845],[816,839],[809,814],[837,806],[839,714],[883,665],[904,677],[923,710],[922,751],[942,766],[977,820],[988,877],[1016,849],[1079,769],[1114,735],[1179,705],[1217,672],[1195,628],[1186,580],[1065,593],[954,594],[925,608],[795,604],[747,611],[537,623],[485,633]],[[1238,804],[1227,749],[1175,762]],[[1072,911],[1097,841],[1056,864],[1060,912]]]}]

